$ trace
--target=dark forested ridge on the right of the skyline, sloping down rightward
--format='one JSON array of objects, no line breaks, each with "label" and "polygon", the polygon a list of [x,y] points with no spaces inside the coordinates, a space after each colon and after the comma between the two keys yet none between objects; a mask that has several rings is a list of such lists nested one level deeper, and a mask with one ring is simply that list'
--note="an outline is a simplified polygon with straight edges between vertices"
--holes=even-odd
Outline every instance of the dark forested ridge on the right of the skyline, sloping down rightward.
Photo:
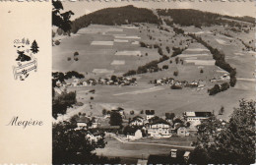
[{"label": "dark forested ridge on the right of the skyline, sloping down rightward", "polygon": [[242,27],[240,23],[227,21],[223,18],[254,23],[254,19],[251,17],[231,17],[231,16],[223,16],[220,14],[210,13],[210,12],[202,12],[193,9],[158,9],[158,13],[160,16],[169,16],[172,20],[171,23],[178,24],[180,26],[188,27],[210,27],[214,25],[224,26],[229,25],[231,27]]}]

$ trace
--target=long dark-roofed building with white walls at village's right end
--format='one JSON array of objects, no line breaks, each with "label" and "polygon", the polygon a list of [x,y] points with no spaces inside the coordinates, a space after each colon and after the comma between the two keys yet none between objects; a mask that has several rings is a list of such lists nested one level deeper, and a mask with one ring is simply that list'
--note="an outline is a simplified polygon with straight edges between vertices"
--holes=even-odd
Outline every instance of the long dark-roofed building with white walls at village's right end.
[{"label": "long dark-roofed building with white walls at village's right end", "polygon": [[183,114],[183,117],[187,122],[202,121],[211,116],[211,112],[184,112]]}]

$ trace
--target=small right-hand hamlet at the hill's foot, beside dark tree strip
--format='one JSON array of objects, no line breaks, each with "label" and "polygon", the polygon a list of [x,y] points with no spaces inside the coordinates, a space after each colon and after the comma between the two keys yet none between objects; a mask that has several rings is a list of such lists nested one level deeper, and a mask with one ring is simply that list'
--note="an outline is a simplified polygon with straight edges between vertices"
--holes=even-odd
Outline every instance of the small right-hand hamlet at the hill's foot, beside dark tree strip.
[{"label": "small right-hand hamlet at the hill's foot, beside dark tree strip", "polygon": [[175,81],[173,78],[162,78],[159,80],[155,80],[156,85],[175,85],[179,87],[197,87],[197,88],[204,88],[206,83],[204,81],[193,81],[188,83],[187,81]]}]

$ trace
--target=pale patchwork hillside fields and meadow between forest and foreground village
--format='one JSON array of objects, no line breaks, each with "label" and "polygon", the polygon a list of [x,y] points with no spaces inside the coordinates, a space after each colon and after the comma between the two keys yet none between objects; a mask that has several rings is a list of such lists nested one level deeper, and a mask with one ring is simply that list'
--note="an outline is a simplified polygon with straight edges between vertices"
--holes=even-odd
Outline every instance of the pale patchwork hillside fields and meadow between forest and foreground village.
[{"label": "pale patchwork hillside fields and meadow between forest and foreground village", "polygon": [[[160,62],[168,69],[156,73],[136,75],[136,86],[96,85],[96,86],[70,86],[68,90],[76,90],[78,101],[84,106],[76,110],[76,113],[100,115],[102,109],[122,107],[127,117],[131,110],[135,115],[141,110],[155,109],[157,115],[164,116],[166,112],[174,112],[181,115],[184,111],[218,111],[224,106],[224,115],[219,118],[228,119],[233,107],[238,106],[241,98],[254,99],[254,55],[255,52],[242,50],[241,41],[235,37],[225,36],[214,30],[225,31],[224,27],[184,27],[186,32],[194,32],[204,40],[225,54],[225,60],[237,72],[235,87],[209,96],[207,89],[215,85],[210,80],[219,78],[226,72],[215,66],[215,60],[210,51],[202,44],[192,42],[188,36],[175,34],[172,27],[166,27],[168,31],[161,30],[156,25],[142,24],[140,27],[98,26],[82,28],[78,35],[63,38],[61,44],[53,47],[53,71],[68,72],[77,71],[83,73],[86,79],[110,78],[111,75],[121,76],[129,70],[137,70],[146,63],[160,59],[157,48],[141,47],[140,41],[149,45],[159,44],[162,53],[169,57]],[[236,35],[241,39],[252,37],[251,33]],[[247,38],[246,38],[247,39]],[[246,40],[245,39],[245,40]],[[248,40],[248,39],[247,39]],[[170,48],[167,52],[166,46]],[[176,56],[183,60],[184,64],[175,63],[176,57],[170,57],[172,47],[186,47],[182,54]],[[78,52],[74,58],[74,52]],[[71,60],[67,60],[71,58]],[[171,61],[171,63],[170,63]],[[203,73],[200,73],[203,70]],[[178,76],[173,72],[177,71]],[[206,86],[202,90],[196,88],[183,88],[181,90],[170,89],[168,85],[154,86],[150,84],[162,78],[174,78],[178,81],[204,81]],[[96,93],[88,93],[90,89],[96,89]],[[91,97],[94,99],[90,99]],[[90,106],[89,106],[90,105]],[[69,111],[72,111],[70,109]]]}]

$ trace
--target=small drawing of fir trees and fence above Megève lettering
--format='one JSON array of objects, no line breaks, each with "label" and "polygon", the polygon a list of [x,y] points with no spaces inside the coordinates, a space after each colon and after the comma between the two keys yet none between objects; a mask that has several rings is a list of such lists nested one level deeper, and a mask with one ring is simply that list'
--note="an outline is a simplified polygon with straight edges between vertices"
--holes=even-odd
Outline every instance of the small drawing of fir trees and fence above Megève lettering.
[{"label": "small drawing of fir trees and fence above Meg\u00e8ve lettering", "polygon": [[16,62],[17,65],[13,66],[14,79],[25,81],[29,78],[30,72],[37,71],[37,59],[34,57],[39,52],[39,47],[35,40],[32,41],[27,38],[15,39],[14,47],[17,50]]}]

